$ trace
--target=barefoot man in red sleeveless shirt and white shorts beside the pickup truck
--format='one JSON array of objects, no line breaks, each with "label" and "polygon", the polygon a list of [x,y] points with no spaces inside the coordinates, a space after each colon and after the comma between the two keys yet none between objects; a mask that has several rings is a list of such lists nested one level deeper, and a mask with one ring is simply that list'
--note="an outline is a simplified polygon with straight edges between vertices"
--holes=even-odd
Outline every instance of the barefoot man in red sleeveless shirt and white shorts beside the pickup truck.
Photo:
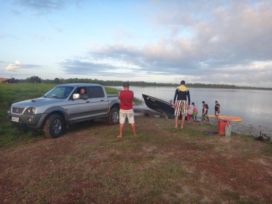
[{"label": "barefoot man in red sleeveless shirt and white shorts beside the pickup truck", "polygon": [[133,135],[136,136],[136,128],[134,122],[134,111],[132,107],[132,101],[134,97],[133,91],[129,90],[129,83],[124,82],[123,84],[124,90],[120,91],[118,94],[118,98],[120,100],[120,113],[119,113],[119,122],[120,122],[120,133],[117,137],[123,136],[123,129],[126,117],[128,117],[128,122],[131,124]]}]

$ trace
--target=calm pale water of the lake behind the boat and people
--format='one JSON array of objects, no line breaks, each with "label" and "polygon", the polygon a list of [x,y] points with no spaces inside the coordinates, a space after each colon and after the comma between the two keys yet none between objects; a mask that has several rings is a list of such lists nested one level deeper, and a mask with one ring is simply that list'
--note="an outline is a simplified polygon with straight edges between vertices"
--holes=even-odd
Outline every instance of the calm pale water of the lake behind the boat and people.
[{"label": "calm pale water of the lake behind the boat and people", "polygon": [[[121,86],[114,88],[122,90]],[[138,99],[142,94],[161,98],[165,101],[173,100],[174,87],[141,87],[131,86],[130,90]],[[209,114],[214,114],[215,101],[220,104],[220,114],[241,117],[242,122],[231,121],[232,131],[240,134],[258,136],[259,132],[272,135],[272,91],[244,90],[244,89],[215,89],[189,88],[191,102],[195,103],[201,119],[202,101],[209,105]],[[144,101],[136,107],[147,108]],[[215,122],[214,118],[210,118]]]}]

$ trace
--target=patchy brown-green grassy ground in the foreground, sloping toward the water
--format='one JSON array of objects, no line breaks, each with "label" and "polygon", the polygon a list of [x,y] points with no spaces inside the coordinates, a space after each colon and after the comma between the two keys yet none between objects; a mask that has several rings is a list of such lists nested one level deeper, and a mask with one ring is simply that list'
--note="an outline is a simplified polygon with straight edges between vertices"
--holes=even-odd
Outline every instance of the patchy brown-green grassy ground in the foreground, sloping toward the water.
[{"label": "patchy brown-green grassy ground in the foreground, sloping toward the water", "polygon": [[0,203],[240,203],[272,200],[272,145],[174,129],[172,119],[76,123],[56,139],[0,149]]}]

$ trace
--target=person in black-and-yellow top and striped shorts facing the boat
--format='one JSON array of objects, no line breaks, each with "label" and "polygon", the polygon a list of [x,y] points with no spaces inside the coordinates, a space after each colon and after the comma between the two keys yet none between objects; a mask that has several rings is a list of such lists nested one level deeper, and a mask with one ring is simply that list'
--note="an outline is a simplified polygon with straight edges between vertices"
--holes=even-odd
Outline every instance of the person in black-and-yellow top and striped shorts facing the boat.
[{"label": "person in black-and-yellow top and striped shorts facing the boat", "polygon": [[[174,107],[175,107],[175,128],[178,127],[178,117],[181,116],[181,129],[183,128],[185,116],[186,116],[186,102],[188,98],[188,105],[190,104],[190,92],[189,89],[185,86],[185,81],[180,82],[180,86],[176,88],[174,96]],[[176,103],[177,100],[177,103]]]}]

